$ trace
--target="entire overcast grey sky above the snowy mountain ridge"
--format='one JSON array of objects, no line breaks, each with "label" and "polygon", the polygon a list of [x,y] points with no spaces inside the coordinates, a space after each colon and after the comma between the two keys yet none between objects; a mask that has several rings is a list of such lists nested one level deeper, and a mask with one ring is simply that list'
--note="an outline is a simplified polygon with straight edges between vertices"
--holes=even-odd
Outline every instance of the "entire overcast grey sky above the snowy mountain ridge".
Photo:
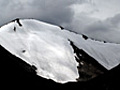
[{"label": "entire overcast grey sky above the snowy mountain ridge", "polygon": [[120,31],[120,0],[0,0],[0,25],[17,17],[39,19],[90,36],[103,31],[110,35]]}]

